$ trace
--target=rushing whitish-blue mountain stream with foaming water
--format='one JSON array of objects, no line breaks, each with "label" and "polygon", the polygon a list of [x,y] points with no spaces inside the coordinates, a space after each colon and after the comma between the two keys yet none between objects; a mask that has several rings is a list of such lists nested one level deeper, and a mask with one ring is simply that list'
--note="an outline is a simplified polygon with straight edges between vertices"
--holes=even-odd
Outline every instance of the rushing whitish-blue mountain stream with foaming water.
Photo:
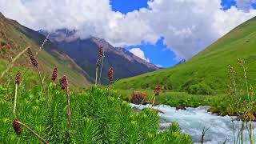
[{"label": "rushing whitish-blue mountain stream with foaming water", "polygon": [[[143,108],[150,107],[150,105],[134,105],[130,106],[142,110]],[[159,113],[161,118],[161,130],[167,129],[170,122],[178,122],[182,133],[190,134],[194,143],[201,143],[203,128],[209,128],[206,132],[204,143],[206,144],[222,144],[226,140],[226,144],[234,143],[234,129],[230,116],[217,116],[207,112],[207,106],[199,106],[198,108],[187,108],[187,110],[176,110],[175,107],[159,105],[153,106],[155,110],[161,110]],[[235,137],[238,135],[238,126],[242,122],[234,121],[235,123]],[[254,139],[256,138],[256,122],[254,126]],[[243,131],[244,143],[250,143],[248,139],[247,130]]]}]

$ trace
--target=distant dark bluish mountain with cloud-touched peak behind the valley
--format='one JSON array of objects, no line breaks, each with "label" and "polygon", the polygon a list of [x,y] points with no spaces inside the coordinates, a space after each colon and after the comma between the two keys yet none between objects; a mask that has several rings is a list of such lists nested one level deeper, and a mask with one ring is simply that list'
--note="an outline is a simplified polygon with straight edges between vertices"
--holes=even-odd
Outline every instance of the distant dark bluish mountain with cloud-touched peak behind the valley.
[{"label": "distant dark bluish mountain with cloud-touched peak behind the valley", "polygon": [[[41,34],[48,35],[44,30]],[[74,59],[78,66],[82,67],[91,78],[95,78],[96,60],[98,47],[102,46],[105,58],[102,68],[102,83],[107,84],[107,71],[114,68],[114,79],[133,77],[150,71],[158,70],[157,66],[138,58],[128,50],[111,46],[101,38],[81,39],[75,30],[57,30],[50,34],[50,40],[58,46],[58,51],[63,52]]]}]

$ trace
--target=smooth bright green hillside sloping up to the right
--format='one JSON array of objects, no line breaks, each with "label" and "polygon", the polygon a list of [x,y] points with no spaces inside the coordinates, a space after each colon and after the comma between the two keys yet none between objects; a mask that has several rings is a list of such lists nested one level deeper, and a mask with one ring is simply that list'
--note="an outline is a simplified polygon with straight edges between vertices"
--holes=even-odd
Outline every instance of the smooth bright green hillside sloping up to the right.
[{"label": "smooth bright green hillside sloping up to the right", "polygon": [[[231,30],[217,42],[180,65],[122,79],[115,83],[118,89],[153,89],[161,84],[168,90],[195,94],[226,93],[230,84],[228,66],[242,76],[238,58],[244,60],[247,78],[256,84],[256,18]],[[200,91],[202,90],[202,91]],[[194,92],[193,92],[194,91]]]}]

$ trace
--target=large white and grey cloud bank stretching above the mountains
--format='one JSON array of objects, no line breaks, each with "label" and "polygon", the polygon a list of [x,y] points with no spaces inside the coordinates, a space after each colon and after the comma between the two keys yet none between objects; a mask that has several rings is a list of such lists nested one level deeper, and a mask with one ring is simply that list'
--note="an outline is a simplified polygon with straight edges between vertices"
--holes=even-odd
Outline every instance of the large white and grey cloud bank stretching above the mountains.
[{"label": "large white and grey cloud bank stretching above the mountains", "polygon": [[112,10],[110,0],[0,0],[6,17],[34,30],[75,29],[81,38],[105,38],[114,46],[154,44],[164,38],[178,59],[192,57],[256,15],[246,9],[224,11],[221,0],[151,0],[147,8],[121,14]]}]

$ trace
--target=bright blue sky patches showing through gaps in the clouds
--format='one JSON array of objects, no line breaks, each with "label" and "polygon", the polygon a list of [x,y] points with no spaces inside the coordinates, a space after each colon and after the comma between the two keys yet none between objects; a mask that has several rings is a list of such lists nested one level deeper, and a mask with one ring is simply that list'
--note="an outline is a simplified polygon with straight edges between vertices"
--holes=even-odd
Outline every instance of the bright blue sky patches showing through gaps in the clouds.
[{"label": "bright blue sky patches showing through gaps in the clouds", "polygon": [[[122,14],[126,14],[133,10],[139,10],[142,7],[147,7],[147,0],[111,0],[110,5],[112,10],[119,11]],[[228,10],[231,6],[235,6],[236,2],[234,0],[222,0],[222,9]],[[256,7],[255,3],[252,3],[251,6]],[[137,46],[126,46],[127,50],[132,48],[140,48],[144,51],[145,57],[150,59],[151,63],[162,67],[174,66],[178,63],[175,54],[171,51],[171,48],[168,49],[166,45],[163,44],[163,39],[161,38],[154,45],[143,43]]]}]

